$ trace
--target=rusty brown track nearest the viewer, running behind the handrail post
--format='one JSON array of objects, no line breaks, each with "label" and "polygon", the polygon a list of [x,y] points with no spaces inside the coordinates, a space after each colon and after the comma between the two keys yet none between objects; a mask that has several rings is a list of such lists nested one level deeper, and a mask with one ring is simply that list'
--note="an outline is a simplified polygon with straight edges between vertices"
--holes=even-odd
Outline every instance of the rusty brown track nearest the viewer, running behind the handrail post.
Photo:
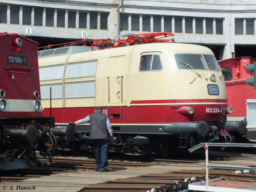
[{"label": "rusty brown track nearest the viewer, running behind the handrail post", "polygon": [[[231,170],[210,170],[209,178],[222,177],[223,180],[255,182],[256,175],[236,174]],[[183,170],[169,173],[142,174],[138,177],[109,180],[105,183],[91,184],[81,189],[81,192],[99,191],[146,191],[154,188],[155,191],[182,191],[189,183],[205,180],[204,170]],[[104,189],[104,190],[103,190]],[[148,191],[148,190],[147,190]],[[149,190],[150,191],[150,190]]]}]

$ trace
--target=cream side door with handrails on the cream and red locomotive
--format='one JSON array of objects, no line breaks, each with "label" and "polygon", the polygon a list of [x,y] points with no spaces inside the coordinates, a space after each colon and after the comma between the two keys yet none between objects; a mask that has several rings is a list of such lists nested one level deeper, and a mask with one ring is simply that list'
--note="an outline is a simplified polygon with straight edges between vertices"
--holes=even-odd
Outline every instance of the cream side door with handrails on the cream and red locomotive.
[{"label": "cream side door with handrails on the cream and red locomotive", "polygon": [[124,85],[126,81],[126,56],[109,57],[107,63],[108,103],[124,103]]}]

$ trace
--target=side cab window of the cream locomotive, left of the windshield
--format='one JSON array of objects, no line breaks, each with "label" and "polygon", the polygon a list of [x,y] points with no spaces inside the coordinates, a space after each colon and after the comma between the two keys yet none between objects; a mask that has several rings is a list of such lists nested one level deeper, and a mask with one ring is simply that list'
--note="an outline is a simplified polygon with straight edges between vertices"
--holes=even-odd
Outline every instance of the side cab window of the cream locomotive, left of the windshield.
[{"label": "side cab window of the cream locomotive, left of the windshield", "polygon": [[142,55],[140,58],[139,71],[161,70],[162,64],[158,54]]}]

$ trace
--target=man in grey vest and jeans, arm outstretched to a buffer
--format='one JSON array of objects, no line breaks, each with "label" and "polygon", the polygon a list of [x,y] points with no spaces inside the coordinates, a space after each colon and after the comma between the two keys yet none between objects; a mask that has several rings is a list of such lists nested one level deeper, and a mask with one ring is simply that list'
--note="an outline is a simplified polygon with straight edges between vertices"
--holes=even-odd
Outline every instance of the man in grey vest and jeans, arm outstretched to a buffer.
[{"label": "man in grey vest and jeans, arm outstretched to a buffer", "polygon": [[107,115],[102,113],[102,107],[96,106],[94,113],[80,120],[71,121],[71,124],[90,122],[90,139],[94,146],[96,168],[94,171],[107,170],[107,146],[109,135],[113,136],[112,128]]}]

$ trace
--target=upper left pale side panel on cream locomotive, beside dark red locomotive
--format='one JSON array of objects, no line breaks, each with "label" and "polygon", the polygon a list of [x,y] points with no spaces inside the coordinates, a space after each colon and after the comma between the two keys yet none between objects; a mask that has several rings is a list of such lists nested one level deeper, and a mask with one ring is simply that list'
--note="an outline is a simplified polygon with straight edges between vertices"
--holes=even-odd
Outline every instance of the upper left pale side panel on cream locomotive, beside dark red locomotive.
[{"label": "upper left pale side panel on cream locomotive, beside dark red locomotive", "polygon": [[63,78],[64,65],[39,67],[40,81],[57,80]]}]

